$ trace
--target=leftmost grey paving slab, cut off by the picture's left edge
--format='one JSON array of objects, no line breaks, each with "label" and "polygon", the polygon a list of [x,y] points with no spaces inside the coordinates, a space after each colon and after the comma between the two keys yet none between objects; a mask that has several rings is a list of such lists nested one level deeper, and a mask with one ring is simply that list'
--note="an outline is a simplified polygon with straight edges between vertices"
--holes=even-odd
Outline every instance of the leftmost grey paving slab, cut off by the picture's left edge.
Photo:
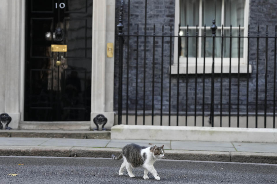
[{"label": "leftmost grey paving slab, cut off by the picture's left edge", "polygon": [[14,145],[14,146],[38,146],[50,138],[29,138],[29,137],[1,137],[0,145]]}]

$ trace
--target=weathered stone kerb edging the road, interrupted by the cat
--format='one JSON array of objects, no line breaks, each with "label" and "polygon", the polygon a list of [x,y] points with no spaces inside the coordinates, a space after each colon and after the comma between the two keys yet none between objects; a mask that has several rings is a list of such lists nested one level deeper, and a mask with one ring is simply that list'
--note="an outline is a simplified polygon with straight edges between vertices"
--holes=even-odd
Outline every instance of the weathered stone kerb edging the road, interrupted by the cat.
[{"label": "weathered stone kerb edging the road, interrupted by the cat", "polygon": [[[57,156],[111,158],[119,148],[0,146],[1,156]],[[165,150],[166,159],[277,164],[277,153]]]}]

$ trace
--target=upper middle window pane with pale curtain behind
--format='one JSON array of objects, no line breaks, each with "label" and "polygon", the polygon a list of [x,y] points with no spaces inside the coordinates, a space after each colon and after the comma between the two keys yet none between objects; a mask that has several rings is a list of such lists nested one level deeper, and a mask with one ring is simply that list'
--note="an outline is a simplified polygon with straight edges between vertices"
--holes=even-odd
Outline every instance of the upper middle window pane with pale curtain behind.
[{"label": "upper middle window pane with pale curtain behind", "polygon": [[202,1],[202,26],[212,24],[216,20],[216,25],[221,25],[221,2],[222,0]]}]

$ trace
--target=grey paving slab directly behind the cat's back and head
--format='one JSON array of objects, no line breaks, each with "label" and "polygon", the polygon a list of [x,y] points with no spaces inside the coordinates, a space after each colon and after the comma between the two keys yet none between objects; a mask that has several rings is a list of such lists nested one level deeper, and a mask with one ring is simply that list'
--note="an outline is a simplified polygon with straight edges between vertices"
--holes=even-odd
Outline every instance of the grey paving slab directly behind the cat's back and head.
[{"label": "grey paving slab directly behind the cat's back and head", "polygon": [[171,150],[170,141],[156,141],[156,140],[122,140],[122,139],[112,139],[106,147],[116,147],[122,148],[127,144],[135,143],[141,146],[161,146],[164,144],[165,150]]}]

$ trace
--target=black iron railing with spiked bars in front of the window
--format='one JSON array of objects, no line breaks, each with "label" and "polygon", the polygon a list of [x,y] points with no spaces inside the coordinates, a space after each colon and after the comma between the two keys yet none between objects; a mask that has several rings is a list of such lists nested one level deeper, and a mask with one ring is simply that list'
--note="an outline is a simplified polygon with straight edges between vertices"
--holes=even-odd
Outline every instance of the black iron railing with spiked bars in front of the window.
[{"label": "black iron railing with spiked bars in front of the window", "polygon": [[[129,2],[130,4],[130,2]],[[117,111],[118,111],[118,124],[122,123],[122,115],[126,115],[126,124],[131,121],[128,116],[134,115],[134,124],[138,124],[138,116],[143,116],[142,124],[145,124],[145,116],[151,116],[151,124],[154,124],[154,116],[160,116],[160,125],[162,125],[164,116],[168,116],[168,125],[172,124],[172,116],[176,116],[176,125],[179,125],[179,116],[185,117],[185,125],[188,125],[188,116],[194,116],[194,126],[196,126],[197,116],[202,116],[202,126],[204,126],[204,117],[209,116],[211,126],[214,126],[214,117],[219,116],[219,126],[222,125],[222,117],[228,116],[228,127],[231,127],[231,117],[236,116],[236,127],[240,127],[240,117],[245,116],[246,127],[249,127],[249,116],[255,116],[255,126],[258,126],[258,117],[264,117],[263,127],[267,126],[267,118],[272,116],[272,127],[275,128],[275,108],[276,108],[276,39],[277,27],[275,26],[275,33],[273,36],[268,34],[268,26],[265,30],[265,35],[261,36],[259,28],[257,27],[257,35],[250,36],[250,26],[248,26],[247,36],[241,35],[241,27],[238,28],[238,35],[232,36],[232,26],[230,26],[230,34],[224,35],[224,27],[222,25],[221,35],[216,35],[216,22],[212,21],[211,35],[207,35],[206,26],[204,26],[203,35],[198,35],[198,27],[196,26],[196,34],[189,35],[174,35],[172,26],[167,28],[161,26],[161,32],[157,34],[157,26],[147,29],[146,21],[146,7],[145,3],[145,24],[144,33],[140,34],[139,25],[136,25],[136,31],[130,33],[130,5],[128,6],[128,29],[127,34],[123,34],[123,1],[121,1],[119,24],[118,27],[118,98],[117,98]],[[133,24],[134,25],[134,24]],[[187,30],[189,26],[187,26]],[[147,30],[153,30],[152,34],[147,34]],[[180,25],[179,25],[180,33]],[[173,48],[174,39],[177,38],[178,48]],[[207,45],[206,39],[212,38],[212,45]],[[181,39],[186,41],[186,62],[182,66],[186,66],[186,72],[180,73],[180,60],[181,55]],[[188,49],[189,40],[195,39],[195,73],[189,74],[188,71]],[[203,72],[198,73],[198,39],[203,40]],[[220,72],[215,74],[215,40],[220,39],[220,53],[221,64]],[[223,49],[224,40],[229,40],[229,73],[223,72]],[[241,39],[247,41],[247,72],[243,74],[240,71],[240,51]],[[264,48],[259,48],[259,41],[265,41]],[[268,40],[270,39],[271,45],[274,44],[274,58],[268,59]],[[238,49],[238,70],[235,74],[231,71],[232,66],[232,41],[237,40]],[[256,69],[252,70],[253,75],[250,75],[250,49],[253,50],[251,43],[256,44],[256,58],[253,59],[252,65],[256,65]],[[254,42],[256,40],[256,42]],[[130,41],[132,44],[130,44]],[[164,48],[167,48],[166,50]],[[212,70],[207,72],[206,68],[206,47],[212,47]],[[177,57],[177,73],[172,74],[173,66],[173,50],[178,49]],[[244,48],[246,49],[246,48]],[[253,53],[253,52],[252,52]],[[259,53],[263,53],[264,59],[259,57]],[[272,53],[273,55],[273,53]],[[264,61],[264,78],[259,74],[259,62]],[[255,62],[254,62],[255,61]],[[270,62],[270,63],[269,63]],[[270,74],[268,74],[268,67],[270,66]],[[123,70],[124,68],[124,70]],[[160,71],[157,73],[157,68]],[[166,68],[168,72],[165,73]],[[206,72],[206,73],[205,73]],[[256,73],[255,73],[256,72]],[[142,74],[143,73],[143,74]],[[140,75],[141,74],[141,75]],[[256,75],[256,77],[253,77]],[[150,77],[149,77],[150,76]],[[124,78],[124,80],[123,80]],[[199,82],[199,79],[201,81]],[[234,82],[234,79],[236,82]],[[174,81],[173,81],[174,80]],[[194,80],[194,86],[192,85]],[[228,80],[228,82],[227,82]],[[251,80],[251,83],[250,83]],[[268,88],[268,80],[271,81],[271,87]],[[261,83],[263,87],[259,87]],[[210,84],[210,85],[209,85]],[[253,86],[255,84],[255,87]],[[202,86],[201,86],[202,85]],[[251,89],[250,89],[251,85]],[[272,86],[273,85],[273,86]],[[208,87],[207,87],[208,86]],[[216,89],[215,89],[216,86]],[[228,86],[228,87],[227,87]],[[236,86],[237,95],[233,94],[233,86]],[[246,86],[246,87],[245,87]],[[123,90],[126,89],[125,90]],[[174,89],[173,89],[174,88]],[[180,90],[181,88],[181,90]],[[228,88],[228,89],[227,89]],[[255,91],[253,91],[255,89]],[[268,89],[273,92],[268,94]],[[201,91],[202,90],[202,91]],[[142,92],[141,92],[142,91]],[[219,92],[218,92],[219,91]],[[139,94],[139,92],[141,92]],[[157,93],[158,92],[158,95]],[[233,93],[232,93],[233,92]],[[251,95],[250,95],[251,92]],[[173,94],[174,93],[174,94]],[[225,95],[223,95],[223,93]],[[246,99],[242,99],[242,95]],[[260,95],[260,93],[263,93]],[[226,95],[228,94],[228,95]],[[255,94],[255,95],[253,95]],[[270,103],[268,103],[268,97]],[[205,99],[208,97],[209,100]],[[173,99],[174,98],[174,99]],[[181,99],[180,99],[181,98]],[[191,100],[190,98],[193,98]],[[250,99],[251,98],[251,99]],[[255,98],[255,99],[254,99]],[[261,98],[263,98],[261,100]],[[216,100],[215,100],[216,99]],[[174,103],[173,103],[174,102]],[[157,105],[159,104],[159,105]],[[158,107],[159,106],[159,107]],[[193,107],[192,107],[193,106]],[[207,107],[208,106],[208,107]],[[263,106],[263,107],[262,107]],[[215,108],[216,107],[216,108]],[[255,108],[254,108],[255,107]],[[255,110],[254,110],[254,109]],[[216,109],[216,110],[215,110]],[[234,110],[235,109],[235,110]],[[167,120],[166,120],[167,121]]]}]

